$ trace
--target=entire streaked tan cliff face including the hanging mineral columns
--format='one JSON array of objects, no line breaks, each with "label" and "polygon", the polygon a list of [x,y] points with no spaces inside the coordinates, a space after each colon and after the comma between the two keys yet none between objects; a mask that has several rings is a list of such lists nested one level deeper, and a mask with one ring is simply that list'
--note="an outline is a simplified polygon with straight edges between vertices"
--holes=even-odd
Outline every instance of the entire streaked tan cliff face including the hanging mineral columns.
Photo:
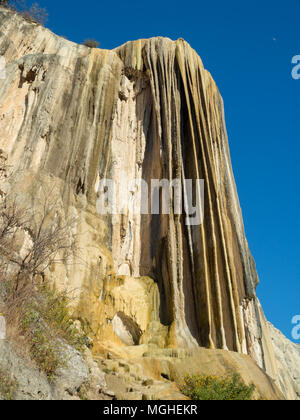
[{"label": "entire streaked tan cliff face including the hanging mineral columns", "polygon": [[[37,208],[52,195],[62,220],[76,218],[80,261],[47,276],[75,291],[95,348],[231,350],[277,379],[223,102],[196,52],[166,38],[89,49],[0,8],[0,54],[0,148],[14,172],[2,193]],[[132,214],[129,204],[101,216],[104,178],[204,179],[203,223]],[[141,188],[130,194],[142,207]]]}]

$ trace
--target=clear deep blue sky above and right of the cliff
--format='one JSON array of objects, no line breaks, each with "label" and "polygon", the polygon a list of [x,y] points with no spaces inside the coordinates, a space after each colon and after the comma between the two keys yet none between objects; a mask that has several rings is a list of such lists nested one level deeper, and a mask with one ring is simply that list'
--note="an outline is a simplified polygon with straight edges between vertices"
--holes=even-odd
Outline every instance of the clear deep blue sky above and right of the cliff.
[{"label": "clear deep blue sky above and right of the cliff", "polygon": [[187,40],[225,102],[234,173],[267,318],[291,338],[300,314],[299,0],[40,0],[47,26],[102,48],[152,36]]}]

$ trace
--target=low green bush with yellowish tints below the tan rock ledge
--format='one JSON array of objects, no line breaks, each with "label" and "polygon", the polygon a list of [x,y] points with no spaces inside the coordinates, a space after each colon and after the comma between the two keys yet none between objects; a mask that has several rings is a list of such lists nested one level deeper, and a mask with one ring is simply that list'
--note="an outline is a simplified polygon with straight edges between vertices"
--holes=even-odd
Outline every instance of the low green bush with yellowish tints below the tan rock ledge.
[{"label": "low green bush with yellowish tints below the tan rock ledge", "polygon": [[228,377],[186,376],[181,392],[192,400],[248,401],[253,398],[255,385],[245,385],[238,374]]}]

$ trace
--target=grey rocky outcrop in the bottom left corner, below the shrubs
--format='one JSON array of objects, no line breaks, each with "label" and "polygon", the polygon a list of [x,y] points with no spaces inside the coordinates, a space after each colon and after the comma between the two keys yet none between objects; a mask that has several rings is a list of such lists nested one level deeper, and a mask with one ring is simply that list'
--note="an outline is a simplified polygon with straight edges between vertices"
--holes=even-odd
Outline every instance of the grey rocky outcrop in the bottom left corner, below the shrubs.
[{"label": "grey rocky outcrop in the bottom left corner, below the shrubs", "polygon": [[[52,380],[36,367],[28,355],[16,351],[6,340],[0,340],[0,388],[4,375],[12,383],[14,400],[81,400],[88,393],[91,400],[112,399],[105,374],[89,350],[79,353],[60,342],[62,363]],[[0,390],[0,400],[1,400]]]}]

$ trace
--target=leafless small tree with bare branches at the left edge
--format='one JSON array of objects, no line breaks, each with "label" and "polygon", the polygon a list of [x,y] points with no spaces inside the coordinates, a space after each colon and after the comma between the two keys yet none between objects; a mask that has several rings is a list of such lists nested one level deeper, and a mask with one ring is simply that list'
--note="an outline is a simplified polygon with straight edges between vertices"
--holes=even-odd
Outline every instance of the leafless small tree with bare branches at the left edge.
[{"label": "leafless small tree with bare branches at the left edge", "polygon": [[[42,191],[39,199],[39,205],[34,199],[31,209],[11,196],[0,203],[0,255],[5,265],[18,267],[14,279],[16,291],[23,278],[33,281],[37,276],[43,277],[52,264],[66,261],[71,253],[76,253],[76,238],[70,234],[75,219],[62,220],[58,197],[53,191]],[[18,232],[27,234],[31,242],[22,255],[15,250]]]}]

